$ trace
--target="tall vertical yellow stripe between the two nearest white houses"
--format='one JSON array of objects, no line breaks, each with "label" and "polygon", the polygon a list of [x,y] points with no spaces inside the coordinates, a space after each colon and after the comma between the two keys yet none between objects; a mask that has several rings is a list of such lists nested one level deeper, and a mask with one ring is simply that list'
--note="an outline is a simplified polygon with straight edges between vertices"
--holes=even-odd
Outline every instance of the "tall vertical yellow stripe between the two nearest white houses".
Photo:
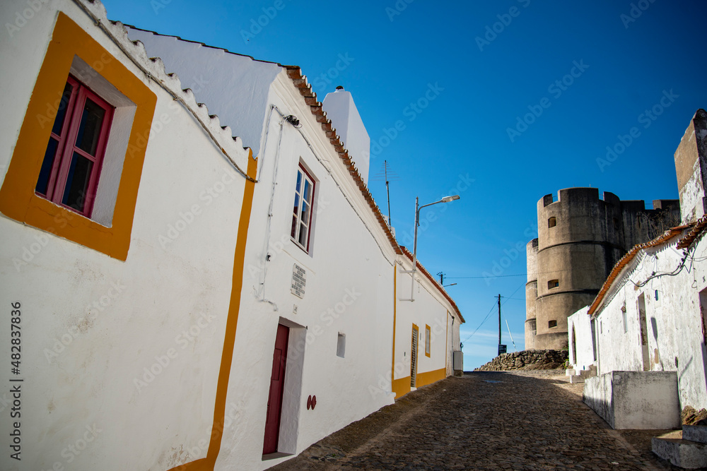
[{"label": "tall vertical yellow stripe between the two nearest white houses", "polygon": [[247,174],[253,181],[245,181],[243,191],[243,205],[238,221],[238,235],[235,242],[233,255],[233,282],[230,290],[230,304],[228,304],[228,318],[226,319],[226,334],[223,339],[223,354],[221,355],[221,368],[218,370],[218,383],[216,385],[216,403],[214,405],[214,425],[211,427],[211,441],[206,458],[173,467],[169,471],[213,471],[216,465],[218,452],[221,451],[223,438],[223,424],[226,420],[226,396],[228,395],[228,381],[230,368],[233,364],[233,347],[235,346],[235,332],[238,328],[238,314],[240,313],[240,292],[243,290],[243,270],[245,268],[245,242],[250,225],[250,213],[253,207],[253,193],[255,192],[255,176],[258,168],[257,158],[252,158],[252,150],[248,154]]}]

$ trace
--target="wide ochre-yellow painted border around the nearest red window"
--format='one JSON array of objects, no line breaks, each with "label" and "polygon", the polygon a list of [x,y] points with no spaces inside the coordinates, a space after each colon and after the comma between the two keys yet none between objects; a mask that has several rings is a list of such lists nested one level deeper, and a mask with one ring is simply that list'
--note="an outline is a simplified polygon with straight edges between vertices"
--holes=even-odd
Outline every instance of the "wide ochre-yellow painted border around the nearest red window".
[{"label": "wide ochre-yellow painted border around the nearest red window", "polygon": [[[74,56],[81,57],[87,64],[101,64],[100,75],[136,105],[112,227],[100,225],[35,195],[37,177],[52,131],[53,117],[47,118],[47,109],[61,98]],[[106,58],[110,60],[106,61]],[[156,104],[157,97],[147,85],[68,16],[59,12],[0,189],[0,213],[124,261],[130,246],[137,192]],[[49,119],[49,126],[42,128],[38,124],[42,117]]]}]

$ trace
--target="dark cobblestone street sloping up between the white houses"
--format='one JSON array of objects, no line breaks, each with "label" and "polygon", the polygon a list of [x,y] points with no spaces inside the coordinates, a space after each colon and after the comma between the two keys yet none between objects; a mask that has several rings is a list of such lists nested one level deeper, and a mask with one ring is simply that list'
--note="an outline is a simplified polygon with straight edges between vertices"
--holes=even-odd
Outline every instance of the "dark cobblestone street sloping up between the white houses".
[{"label": "dark cobblestone street sloping up between the white houses", "polygon": [[679,469],[650,452],[662,431],[614,431],[582,402],[582,386],[557,371],[447,378],[271,469]]}]

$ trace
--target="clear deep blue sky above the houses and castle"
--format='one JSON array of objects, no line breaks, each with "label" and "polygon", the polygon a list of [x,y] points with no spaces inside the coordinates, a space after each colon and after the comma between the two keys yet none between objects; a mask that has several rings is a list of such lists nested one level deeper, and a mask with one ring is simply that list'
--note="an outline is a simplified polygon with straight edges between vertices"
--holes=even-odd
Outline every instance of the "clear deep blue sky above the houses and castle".
[{"label": "clear deep blue sky above the houses and castle", "polygon": [[103,3],[138,28],[296,64],[320,100],[343,85],[373,143],[369,187],[384,213],[375,174],[384,160],[397,174],[401,244],[411,246],[416,196],[459,189],[460,201],[423,210],[418,254],[457,283],[448,291],[467,320],[464,369],[496,356],[496,294],[503,343],[513,351],[508,320],[524,348],[525,244],[537,237],[539,198],[571,186],[648,207],[677,198],[673,153],[707,106],[707,4],[696,1]]}]

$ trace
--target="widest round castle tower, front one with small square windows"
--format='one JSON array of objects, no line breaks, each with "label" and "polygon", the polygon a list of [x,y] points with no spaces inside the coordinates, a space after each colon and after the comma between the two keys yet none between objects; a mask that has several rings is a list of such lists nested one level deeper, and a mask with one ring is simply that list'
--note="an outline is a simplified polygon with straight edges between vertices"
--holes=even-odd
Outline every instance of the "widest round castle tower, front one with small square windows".
[{"label": "widest round castle tower, front one with small square windows", "polygon": [[[537,334],[534,347],[567,347],[567,317],[592,304],[624,254],[621,201],[595,188],[559,191],[537,203]],[[542,268],[542,269],[540,269]]]}]

